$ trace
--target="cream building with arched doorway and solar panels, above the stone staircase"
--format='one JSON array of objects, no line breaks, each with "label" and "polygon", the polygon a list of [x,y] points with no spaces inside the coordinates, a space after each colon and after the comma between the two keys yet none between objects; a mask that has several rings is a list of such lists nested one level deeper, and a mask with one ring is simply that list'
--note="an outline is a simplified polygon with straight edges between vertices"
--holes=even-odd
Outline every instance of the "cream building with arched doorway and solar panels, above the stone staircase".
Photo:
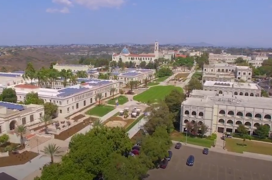
[{"label": "cream building with arched doorway and solar panels, above the stone staircase", "polygon": [[22,105],[0,101],[0,136],[18,125],[37,124],[43,115],[43,105]]}]

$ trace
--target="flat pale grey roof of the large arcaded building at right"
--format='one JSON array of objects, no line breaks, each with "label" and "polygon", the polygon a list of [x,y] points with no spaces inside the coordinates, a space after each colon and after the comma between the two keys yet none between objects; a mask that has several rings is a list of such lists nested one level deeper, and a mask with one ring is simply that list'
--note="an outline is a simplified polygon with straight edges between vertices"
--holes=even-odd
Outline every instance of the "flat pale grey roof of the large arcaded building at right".
[{"label": "flat pale grey roof of the large arcaded building at right", "polygon": [[[207,93],[204,90],[195,92],[195,95],[199,93],[200,96]],[[256,97],[256,96],[240,96],[240,95],[222,95],[222,94],[210,93],[210,96],[204,96],[203,98],[187,98],[182,104],[191,106],[213,107],[217,105],[231,105],[249,108],[261,108],[272,109],[272,98]]]}]

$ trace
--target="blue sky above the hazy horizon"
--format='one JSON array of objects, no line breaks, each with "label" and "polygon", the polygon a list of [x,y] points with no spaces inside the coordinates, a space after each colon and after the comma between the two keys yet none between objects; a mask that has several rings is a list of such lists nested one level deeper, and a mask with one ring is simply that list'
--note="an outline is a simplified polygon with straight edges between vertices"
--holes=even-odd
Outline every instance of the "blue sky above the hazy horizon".
[{"label": "blue sky above the hazy horizon", "polygon": [[8,0],[0,45],[198,43],[272,47],[271,0]]}]

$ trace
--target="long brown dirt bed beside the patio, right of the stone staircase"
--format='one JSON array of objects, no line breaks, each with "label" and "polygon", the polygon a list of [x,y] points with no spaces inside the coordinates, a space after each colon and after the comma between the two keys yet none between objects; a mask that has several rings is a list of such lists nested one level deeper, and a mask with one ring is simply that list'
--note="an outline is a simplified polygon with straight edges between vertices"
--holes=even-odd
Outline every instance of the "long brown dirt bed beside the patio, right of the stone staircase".
[{"label": "long brown dirt bed beside the patio, right of the stone staircase", "polygon": [[95,122],[97,120],[98,120],[98,118],[89,117],[89,118],[83,120],[83,122],[80,122],[80,123],[76,124],[75,126],[72,126],[72,127],[68,128],[67,130],[62,131],[59,134],[55,134],[55,139],[66,140],[69,137],[71,137],[72,135],[78,133],[78,131],[82,130],[83,128],[85,128],[86,126],[88,126],[89,124],[91,124],[92,122]]}]

